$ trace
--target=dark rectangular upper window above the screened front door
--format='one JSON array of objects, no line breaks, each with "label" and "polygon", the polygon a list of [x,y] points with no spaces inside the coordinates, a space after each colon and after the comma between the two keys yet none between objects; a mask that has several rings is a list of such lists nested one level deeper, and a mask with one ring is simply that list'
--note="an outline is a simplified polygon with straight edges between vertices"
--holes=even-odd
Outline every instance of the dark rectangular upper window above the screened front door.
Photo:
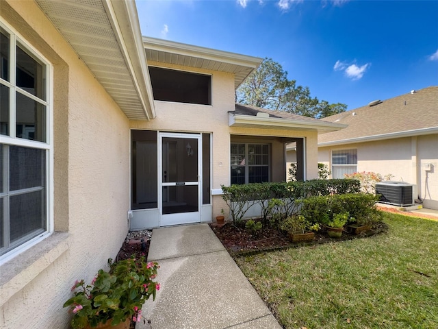
[{"label": "dark rectangular upper window above the screened front door", "polygon": [[211,75],[149,67],[153,98],[211,105]]}]

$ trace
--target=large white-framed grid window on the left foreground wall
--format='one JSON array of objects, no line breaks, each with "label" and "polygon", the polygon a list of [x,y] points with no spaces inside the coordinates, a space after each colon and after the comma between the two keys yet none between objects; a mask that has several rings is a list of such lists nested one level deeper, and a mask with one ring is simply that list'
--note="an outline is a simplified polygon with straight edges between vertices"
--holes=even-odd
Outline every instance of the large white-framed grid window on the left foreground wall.
[{"label": "large white-framed grid window on the left foreground wall", "polygon": [[0,23],[0,259],[51,230],[49,63]]}]

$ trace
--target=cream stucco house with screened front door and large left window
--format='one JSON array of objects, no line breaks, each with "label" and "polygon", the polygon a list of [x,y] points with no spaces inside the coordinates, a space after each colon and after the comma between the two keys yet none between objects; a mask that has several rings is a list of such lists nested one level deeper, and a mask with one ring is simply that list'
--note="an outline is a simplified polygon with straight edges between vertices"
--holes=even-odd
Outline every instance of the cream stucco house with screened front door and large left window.
[{"label": "cream stucco house with screened front door and large left window", "polygon": [[0,327],[68,328],[127,231],[210,222],[220,186],[316,178],[345,125],[234,103],[261,58],[142,38],[133,1],[0,1]]}]

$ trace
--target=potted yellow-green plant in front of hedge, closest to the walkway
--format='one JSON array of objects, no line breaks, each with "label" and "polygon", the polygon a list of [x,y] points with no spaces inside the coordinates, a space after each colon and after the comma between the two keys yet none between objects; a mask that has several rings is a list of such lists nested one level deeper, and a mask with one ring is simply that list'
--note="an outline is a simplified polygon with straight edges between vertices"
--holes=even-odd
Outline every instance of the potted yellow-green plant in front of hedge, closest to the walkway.
[{"label": "potted yellow-green plant in front of hedge, closest to the walkway", "polygon": [[315,232],[312,231],[319,229],[318,223],[310,223],[302,215],[289,216],[281,223],[281,230],[287,232],[289,239],[294,243],[315,239]]}]

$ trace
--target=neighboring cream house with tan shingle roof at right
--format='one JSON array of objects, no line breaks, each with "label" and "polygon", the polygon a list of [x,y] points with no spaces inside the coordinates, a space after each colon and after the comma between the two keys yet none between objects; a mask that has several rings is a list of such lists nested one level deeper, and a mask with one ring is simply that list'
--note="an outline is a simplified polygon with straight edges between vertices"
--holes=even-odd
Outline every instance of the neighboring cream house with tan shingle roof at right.
[{"label": "neighboring cream house with tan shingle roof at right", "polygon": [[[372,171],[415,184],[425,208],[438,209],[438,86],[373,101],[324,118],[346,129],[318,136],[318,162],[333,178]],[[415,190],[415,188],[414,188]]]}]

